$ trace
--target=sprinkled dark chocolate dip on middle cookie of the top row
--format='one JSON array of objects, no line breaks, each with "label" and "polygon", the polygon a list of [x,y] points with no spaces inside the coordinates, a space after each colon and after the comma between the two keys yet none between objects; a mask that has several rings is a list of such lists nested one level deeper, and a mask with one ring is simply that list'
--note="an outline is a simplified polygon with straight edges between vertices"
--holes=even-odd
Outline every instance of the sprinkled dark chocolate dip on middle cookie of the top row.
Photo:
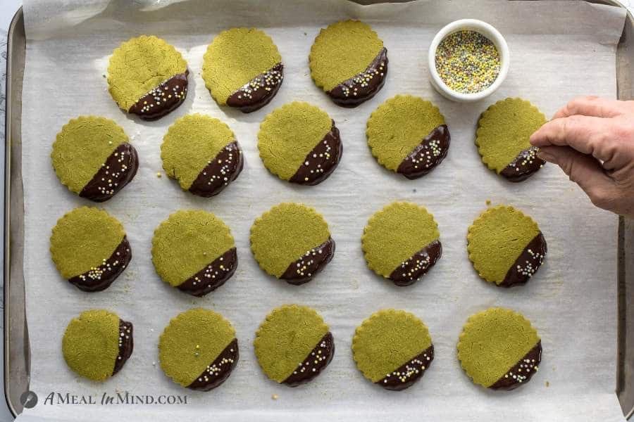
[{"label": "sprinkled dark chocolate dip on middle cookie of the top row", "polygon": [[254,77],[227,98],[227,106],[242,113],[259,110],[271,102],[284,80],[284,65],[278,63],[270,70]]}]

